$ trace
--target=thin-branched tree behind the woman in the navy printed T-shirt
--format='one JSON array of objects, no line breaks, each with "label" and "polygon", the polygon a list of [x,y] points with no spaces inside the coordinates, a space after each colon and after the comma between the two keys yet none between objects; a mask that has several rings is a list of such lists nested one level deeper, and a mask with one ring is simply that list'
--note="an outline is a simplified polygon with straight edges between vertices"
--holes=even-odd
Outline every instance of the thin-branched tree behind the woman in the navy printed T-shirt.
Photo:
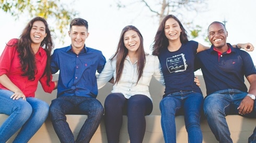
[{"label": "thin-branched tree behind the woman in the navy printed T-shirt", "polygon": [[134,0],[130,1],[127,4],[121,2],[121,0],[117,1],[117,6],[119,8],[125,8],[130,5],[142,3],[147,7],[147,9],[152,12],[154,17],[159,19],[159,23],[162,19],[169,15],[170,13],[179,17],[182,23],[187,25],[188,30],[190,31],[190,35],[192,37],[199,36],[202,27],[200,25],[194,25],[193,20],[188,21],[185,19],[185,15],[193,14],[197,12],[201,12],[206,7],[206,2],[204,0],[158,0],[158,1],[150,1],[150,0]]}]

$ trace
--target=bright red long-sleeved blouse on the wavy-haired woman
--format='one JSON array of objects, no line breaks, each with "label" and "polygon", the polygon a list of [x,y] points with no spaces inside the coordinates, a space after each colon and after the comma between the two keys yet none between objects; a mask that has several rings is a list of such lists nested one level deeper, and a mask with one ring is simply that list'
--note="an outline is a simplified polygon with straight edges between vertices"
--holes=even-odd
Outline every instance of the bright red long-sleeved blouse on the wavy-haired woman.
[{"label": "bright red long-sleeved blouse on the wavy-haired woman", "polygon": [[[5,46],[5,49],[0,57],[0,75],[6,74],[10,81],[13,82],[26,95],[26,97],[34,97],[34,93],[37,90],[38,81],[41,83],[44,92],[51,93],[54,89],[52,76],[50,86],[47,85],[46,75],[42,76],[47,60],[45,50],[40,47],[38,52],[35,54],[37,71],[34,75],[34,81],[29,81],[27,76],[21,75],[23,72],[21,71],[21,66],[19,63],[19,53],[17,51],[17,46],[8,46],[15,45],[17,43],[18,39],[14,38],[11,39]],[[0,83],[0,89],[7,88]]]}]

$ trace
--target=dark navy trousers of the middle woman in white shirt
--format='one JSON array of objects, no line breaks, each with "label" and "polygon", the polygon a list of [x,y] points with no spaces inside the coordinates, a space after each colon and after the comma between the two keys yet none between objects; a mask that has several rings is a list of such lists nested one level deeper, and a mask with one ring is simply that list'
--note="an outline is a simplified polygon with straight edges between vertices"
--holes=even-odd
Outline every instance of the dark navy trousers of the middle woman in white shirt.
[{"label": "dark navy trousers of the middle woman in white shirt", "polygon": [[149,115],[153,109],[150,98],[145,95],[133,95],[126,99],[121,93],[112,93],[107,96],[104,108],[108,143],[119,142],[123,114],[127,114],[130,142],[143,141],[146,129],[145,115]]}]

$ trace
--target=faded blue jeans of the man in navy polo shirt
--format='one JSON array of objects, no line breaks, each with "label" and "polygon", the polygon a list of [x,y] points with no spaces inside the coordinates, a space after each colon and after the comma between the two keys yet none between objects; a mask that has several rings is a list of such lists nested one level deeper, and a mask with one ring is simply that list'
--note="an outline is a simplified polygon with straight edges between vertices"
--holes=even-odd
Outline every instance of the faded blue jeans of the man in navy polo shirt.
[{"label": "faded blue jeans of the man in navy polo shirt", "polygon": [[[204,114],[208,125],[219,142],[232,142],[225,116],[228,114],[240,115],[237,108],[246,95],[247,93],[240,90],[225,89],[206,96],[204,100]],[[242,116],[256,118],[255,102],[253,111]],[[256,141],[255,129],[250,139],[251,141],[249,142]]]}]

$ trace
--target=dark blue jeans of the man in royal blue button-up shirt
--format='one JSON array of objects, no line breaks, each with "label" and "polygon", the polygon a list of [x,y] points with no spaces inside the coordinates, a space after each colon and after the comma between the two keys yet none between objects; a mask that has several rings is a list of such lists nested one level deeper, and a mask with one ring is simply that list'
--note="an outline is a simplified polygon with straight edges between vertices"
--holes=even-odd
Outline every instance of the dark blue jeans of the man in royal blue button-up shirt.
[{"label": "dark blue jeans of the man in royal blue button-up shirt", "polygon": [[[95,98],[81,96],[60,96],[50,105],[50,117],[54,130],[61,142],[89,142],[96,132],[104,109]],[[84,114],[87,119],[75,141],[66,122],[66,114]]]}]

